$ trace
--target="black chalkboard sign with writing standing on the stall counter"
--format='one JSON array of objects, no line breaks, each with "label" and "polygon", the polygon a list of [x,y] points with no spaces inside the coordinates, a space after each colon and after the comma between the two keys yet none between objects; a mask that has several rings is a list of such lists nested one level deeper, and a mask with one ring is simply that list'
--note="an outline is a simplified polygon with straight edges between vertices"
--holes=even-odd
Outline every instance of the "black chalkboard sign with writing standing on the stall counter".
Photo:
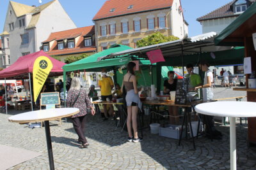
[{"label": "black chalkboard sign with writing standing on the stall counter", "polygon": [[186,104],[187,102],[187,92],[188,92],[189,79],[178,79],[176,94],[175,94],[175,104]]}]

